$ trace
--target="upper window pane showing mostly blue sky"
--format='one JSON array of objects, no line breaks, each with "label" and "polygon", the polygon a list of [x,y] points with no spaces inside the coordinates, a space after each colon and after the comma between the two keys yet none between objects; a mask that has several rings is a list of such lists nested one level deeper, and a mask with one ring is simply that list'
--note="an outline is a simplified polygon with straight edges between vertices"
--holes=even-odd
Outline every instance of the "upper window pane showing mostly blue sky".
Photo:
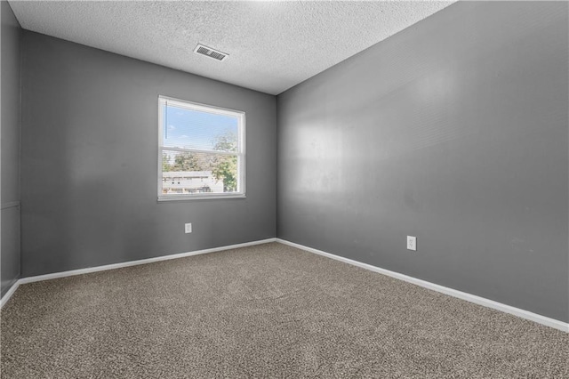
[{"label": "upper window pane showing mostly blue sky", "polygon": [[237,151],[238,118],[164,104],[163,146]]}]

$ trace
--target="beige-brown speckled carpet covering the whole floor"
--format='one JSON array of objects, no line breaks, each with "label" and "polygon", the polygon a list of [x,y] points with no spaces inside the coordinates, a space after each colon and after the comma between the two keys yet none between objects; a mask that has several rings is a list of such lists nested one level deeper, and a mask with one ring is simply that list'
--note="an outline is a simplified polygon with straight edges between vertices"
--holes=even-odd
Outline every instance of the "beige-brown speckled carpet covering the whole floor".
[{"label": "beige-brown speckled carpet covering the whole floor", "polygon": [[569,378],[569,335],[271,243],[22,285],[2,378]]}]

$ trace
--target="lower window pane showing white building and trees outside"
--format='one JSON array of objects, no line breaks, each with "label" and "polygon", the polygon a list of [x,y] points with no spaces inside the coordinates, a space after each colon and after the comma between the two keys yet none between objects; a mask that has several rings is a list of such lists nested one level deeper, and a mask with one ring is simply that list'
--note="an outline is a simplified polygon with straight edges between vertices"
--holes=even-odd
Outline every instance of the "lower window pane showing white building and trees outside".
[{"label": "lower window pane showing white building and trees outside", "polygon": [[237,156],[162,151],[162,196],[237,190]]}]

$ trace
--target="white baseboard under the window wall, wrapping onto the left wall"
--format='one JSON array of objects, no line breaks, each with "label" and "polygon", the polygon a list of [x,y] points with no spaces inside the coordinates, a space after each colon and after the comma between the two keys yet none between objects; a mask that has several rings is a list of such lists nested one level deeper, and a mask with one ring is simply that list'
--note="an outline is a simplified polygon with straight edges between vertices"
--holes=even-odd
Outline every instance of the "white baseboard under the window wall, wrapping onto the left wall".
[{"label": "white baseboard under the window wall, wrapping onto the left wall", "polygon": [[97,272],[97,271],[115,270],[115,269],[120,269],[120,268],[123,268],[123,267],[136,266],[136,265],[139,265],[139,264],[146,264],[146,263],[160,262],[160,261],[168,261],[168,260],[171,260],[171,259],[184,258],[184,257],[187,257],[187,256],[192,256],[192,255],[215,253],[215,252],[220,252],[220,251],[223,251],[223,250],[236,249],[236,248],[239,248],[239,247],[246,247],[246,246],[254,246],[254,245],[268,244],[269,242],[275,242],[275,241],[276,241],[276,238],[261,239],[261,240],[259,240],[259,241],[245,242],[245,243],[243,243],[243,244],[236,244],[236,245],[212,247],[211,249],[196,250],[196,251],[188,252],[188,253],[180,253],[180,254],[170,254],[170,255],[156,256],[156,257],[154,257],[154,258],[141,259],[141,260],[139,260],[139,261],[113,263],[113,264],[106,264],[106,265],[104,265],[104,266],[88,267],[88,268],[86,268],[86,269],[70,270],[70,271],[62,271],[62,272],[54,272],[54,273],[52,273],[52,274],[38,275],[38,276],[36,276],[36,277],[20,278],[16,283],[14,283],[14,285],[12,286],[12,288],[10,288],[10,290],[9,290],[6,294],[4,294],[4,296],[3,296],[2,299],[0,300],[0,308],[2,308],[2,307],[4,306],[4,304],[5,304],[6,302],[8,302],[8,300],[10,300],[10,297],[12,296],[12,294],[16,291],[16,289],[18,288],[18,286],[20,286],[21,284],[39,282],[39,281],[42,281],[42,280],[50,280],[50,279],[55,279],[55,278],[72,277],[72,276],[75,276],[75,275],[88,274],[88,273]]}]

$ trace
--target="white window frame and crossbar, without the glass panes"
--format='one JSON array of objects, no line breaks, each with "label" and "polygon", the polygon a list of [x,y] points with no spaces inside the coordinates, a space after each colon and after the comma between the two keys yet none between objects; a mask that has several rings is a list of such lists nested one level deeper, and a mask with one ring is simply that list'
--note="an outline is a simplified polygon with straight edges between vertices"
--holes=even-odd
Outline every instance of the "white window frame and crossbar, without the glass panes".
[{"label": "white window frame and crossbar, without the glass panes", "polygon": [[[216,151],[209,149],[180,149],[164,147],[164,105],[172,105],[177,108],[196,110],[199,112],[207,112],[215,115],[237,117],[237,152]],[[197,194],[172,194],[164,195],[162,193],[162,152],[180,151],[180,152],[196,152],[207,154],[219,154],[237,157],[237,190],[235,192],[224,193],[197,193]],[[172,97],[158,96],[158,201],[172,200],[193,200],[193,199],[212,199],[212,198],[245,198],[245,112],[235,109],[226,109],[215,107],[212,105],[200,104],[193,101],[184,101],[174,99]]]}]

